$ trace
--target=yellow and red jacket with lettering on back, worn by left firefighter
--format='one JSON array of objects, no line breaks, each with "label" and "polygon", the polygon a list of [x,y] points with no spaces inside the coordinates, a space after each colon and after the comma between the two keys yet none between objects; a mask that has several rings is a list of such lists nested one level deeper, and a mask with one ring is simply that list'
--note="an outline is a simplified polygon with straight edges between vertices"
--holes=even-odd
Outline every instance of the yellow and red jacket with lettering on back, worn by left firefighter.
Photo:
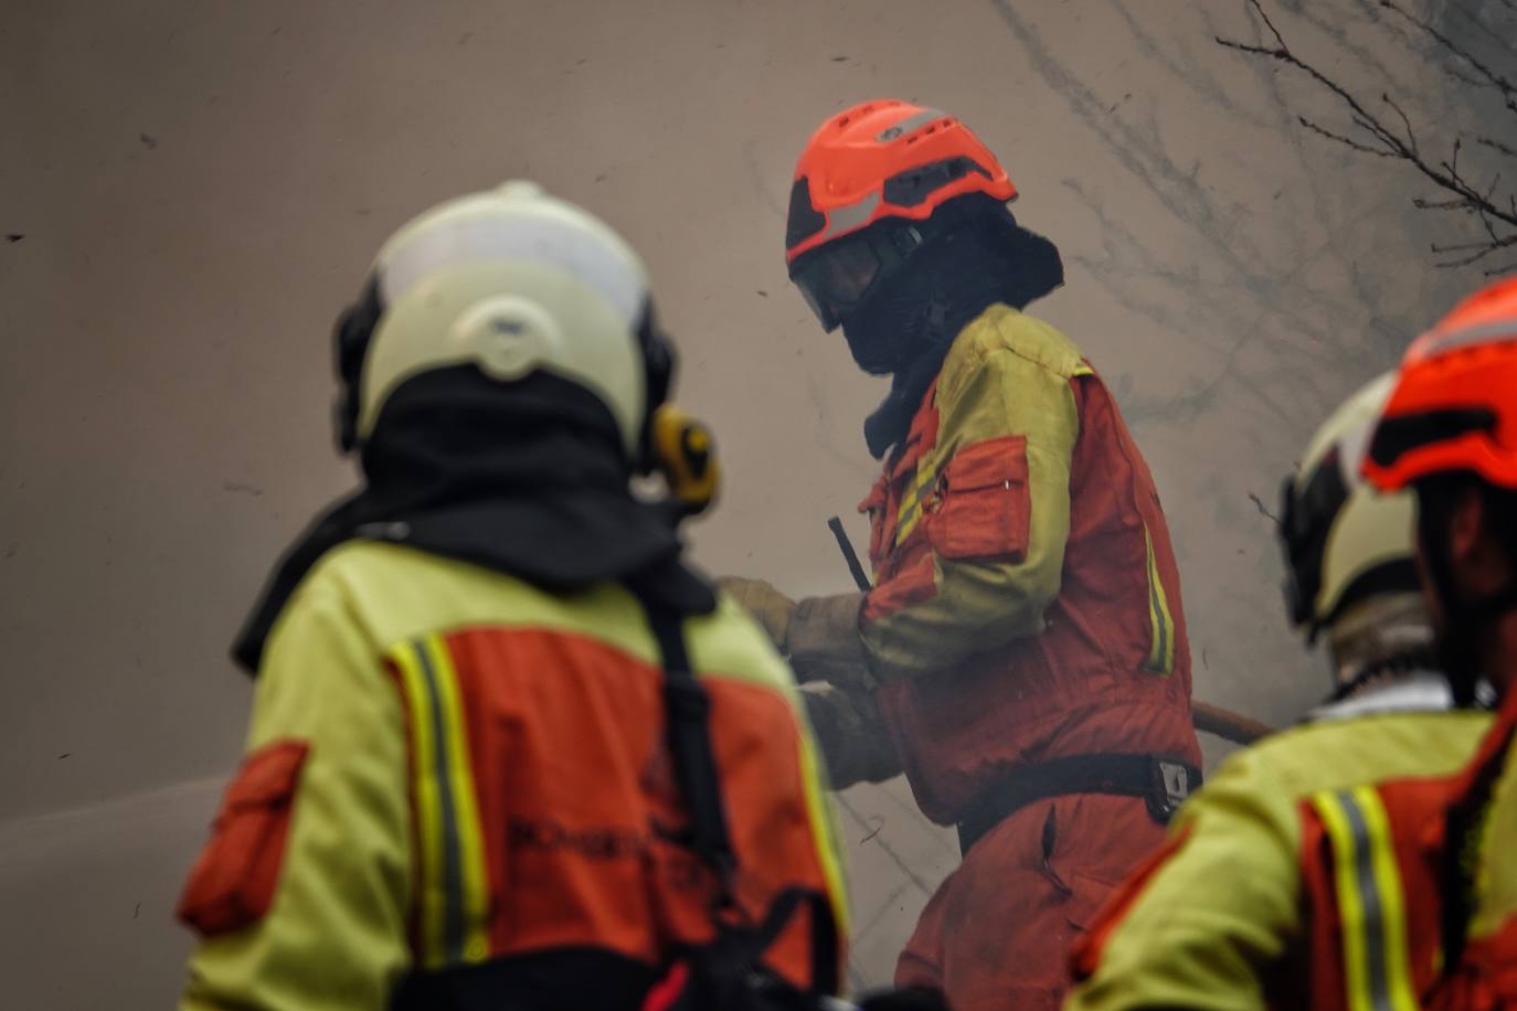
[{"label": "yellow and red jacket with lettering on back, worn by left firefighter", "polygon": [[[790,671],[725,599],[686,640],[739,903],[816,890],[842,950],[840,844]],[[247,759],[185,887],[181,1006],[378,1011],[466,967],[501,1006],[637,1006],[675,944],[711,934],[661,678],[616,584],[551,596],[402,546],[328,552],[269,638]],[[804,919],[768,956],[798,985]]]}]

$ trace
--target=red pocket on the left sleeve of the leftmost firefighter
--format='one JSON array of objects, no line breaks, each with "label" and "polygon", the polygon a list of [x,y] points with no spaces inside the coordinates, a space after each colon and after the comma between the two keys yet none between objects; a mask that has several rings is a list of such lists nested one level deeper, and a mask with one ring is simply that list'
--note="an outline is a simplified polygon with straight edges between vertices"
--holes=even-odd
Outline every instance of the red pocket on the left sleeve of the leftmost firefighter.
[{"label": "red pocket on the left sleeve of the leftmost firefighter", "polygon": [[203,937],[261,920],[273,903],[290,814],[309,744],[276,741],[237,770],[179,897],[179,920]]}]

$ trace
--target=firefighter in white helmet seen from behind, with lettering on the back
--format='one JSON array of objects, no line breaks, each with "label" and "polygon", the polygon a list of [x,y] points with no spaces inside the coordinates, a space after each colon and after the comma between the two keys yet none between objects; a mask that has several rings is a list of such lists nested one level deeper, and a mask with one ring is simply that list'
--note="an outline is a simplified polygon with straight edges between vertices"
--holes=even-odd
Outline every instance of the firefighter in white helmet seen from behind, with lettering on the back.
[{"label": "firefighter in white helmet seen from behind, with lettering on the back", "polygon": [[833,991],[792,675],[630,491],[660,446],[708,453],[666,430],[637,255],[531,183],[443,203],[381,249],[337,364],[363,484],[234,649],[252,728],[179,903],[182,1006],[681,1008],[711,962],[677,959],[745,938]]}]

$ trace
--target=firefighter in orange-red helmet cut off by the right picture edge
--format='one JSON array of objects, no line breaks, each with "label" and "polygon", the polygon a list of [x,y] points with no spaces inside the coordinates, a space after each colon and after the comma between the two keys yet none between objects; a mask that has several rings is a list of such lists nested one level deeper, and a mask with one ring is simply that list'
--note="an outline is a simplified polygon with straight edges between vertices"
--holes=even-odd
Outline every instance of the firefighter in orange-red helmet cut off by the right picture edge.
[{"label": "firefighter in orange-red helmet cut off by the right picture edge", "polygon": [[1437,1008],[1517,1006],[1517,279],[1476,293],[1408,350],[1365,459],[1418,505],[1418,559],[1455,694],[1496,726],[1427,837],[1438,844]]}]

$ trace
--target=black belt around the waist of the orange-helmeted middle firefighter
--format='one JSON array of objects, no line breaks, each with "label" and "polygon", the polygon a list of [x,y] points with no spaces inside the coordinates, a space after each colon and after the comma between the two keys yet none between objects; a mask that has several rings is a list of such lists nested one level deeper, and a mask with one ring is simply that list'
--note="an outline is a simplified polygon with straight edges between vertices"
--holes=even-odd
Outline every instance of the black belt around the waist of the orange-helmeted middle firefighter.
[{"label": "black belt around the waist of the orange-helmeted middle firefighter", "polygon": [[1168,825],[1176,808],[1201,785],[1201,770],[1164,755],[1076,755],[1024,765],[983,791],[959,820],[959,852],[1029,803],[1079,793],[1142,797],[1148,814]]}]

